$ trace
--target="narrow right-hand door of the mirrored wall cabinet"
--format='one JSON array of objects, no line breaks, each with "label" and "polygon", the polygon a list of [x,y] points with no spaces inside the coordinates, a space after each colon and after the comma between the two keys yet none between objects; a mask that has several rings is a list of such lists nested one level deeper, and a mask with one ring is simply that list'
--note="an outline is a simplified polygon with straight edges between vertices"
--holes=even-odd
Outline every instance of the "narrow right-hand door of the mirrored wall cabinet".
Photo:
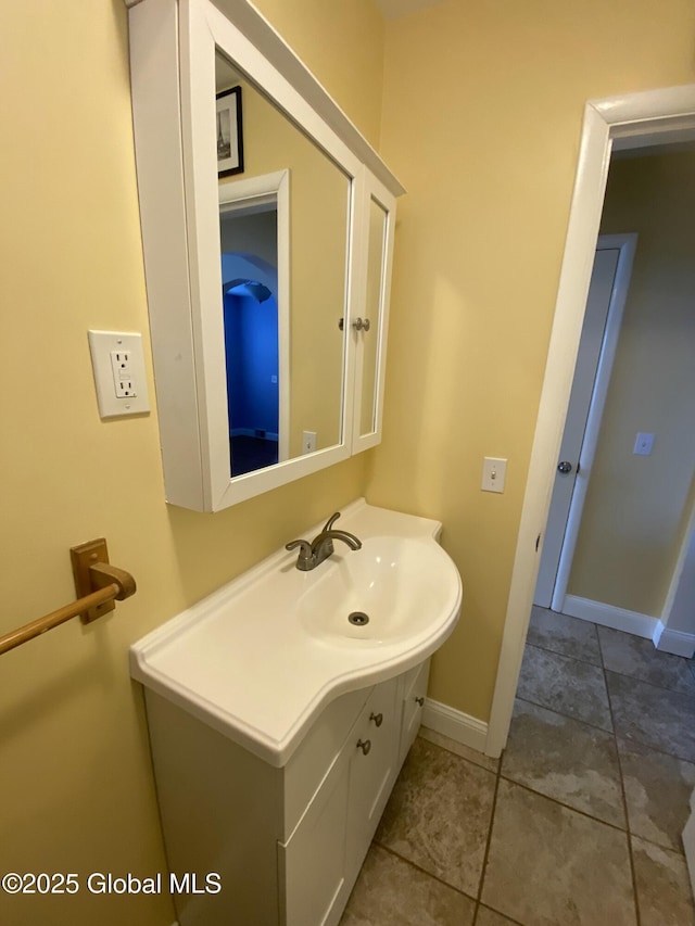
[{"label": "narrow right-hand door of the mirrored wall cabinet", "polygon": [[381,441],[395,228],[395,199],[367,170],[365,172],[365,200],[364,316],[352,320],[352,337],[356,341],[353,453],[366,451]]}]

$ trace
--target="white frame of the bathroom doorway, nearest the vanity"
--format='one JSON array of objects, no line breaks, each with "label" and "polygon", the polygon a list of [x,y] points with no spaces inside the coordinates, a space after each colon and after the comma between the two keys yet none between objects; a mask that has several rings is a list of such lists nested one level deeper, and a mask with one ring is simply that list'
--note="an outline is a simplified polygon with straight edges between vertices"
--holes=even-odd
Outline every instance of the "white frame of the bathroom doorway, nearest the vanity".
[{"label": "white frame of the bathroom doorway, nearest the vanity", "polygon": [[640,148],[694,137],[695,85],[593,100],[584,110],[565,257],[488,724],[489,756],[502,753],[509,732],[539,570],[539,538],[547,521],[565,430],[610,153],[614,148]]}]

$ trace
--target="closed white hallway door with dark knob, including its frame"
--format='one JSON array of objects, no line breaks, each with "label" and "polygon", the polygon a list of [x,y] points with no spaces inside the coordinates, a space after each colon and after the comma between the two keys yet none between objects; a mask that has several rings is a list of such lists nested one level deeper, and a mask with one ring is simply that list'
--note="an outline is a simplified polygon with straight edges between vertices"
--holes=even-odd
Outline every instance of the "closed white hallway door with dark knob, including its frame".
[{"label": "closed white hallway door with dark knob, including its frame", "polygon": [[535,586],[544,608],[561,610],[565,598],[635,245],[635,234],[606,234],[596,246]]}]

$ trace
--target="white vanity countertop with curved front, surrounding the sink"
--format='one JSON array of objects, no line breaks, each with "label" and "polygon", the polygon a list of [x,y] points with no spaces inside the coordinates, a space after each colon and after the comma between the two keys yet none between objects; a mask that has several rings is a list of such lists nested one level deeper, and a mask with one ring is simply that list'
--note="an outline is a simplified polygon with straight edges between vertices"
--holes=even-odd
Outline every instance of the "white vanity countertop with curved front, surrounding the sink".
[{"label": "white vanity countertop with curved front, surrounding the sink", "polygon": [[[320,527],[303,536],[311,540]],[[273,554],[134,644],[132,677],[271,765],[285,765],[327,703],[427,659],[452,632],[460,611],[460,578],[437,542],[439,521],[375,508],[359,499],[343,509],[336,529],[359,537],[363,549],[352,551],[336,542],[334,554],[311,572],[295,568],[298,550]],[[394,563],[375,558],[374,550],[380,545],[397,549],[394,543],[407,549],[408,578],[389,585],[387,575],[389,600],[393,596],[394,610],[409,608],[413,613],[421,602],[426,608],[419,610],[431,616],[383,639],[361,639],[359,631],[345,639],[309,632],[307,627],[318,620],[309,613],[307,598],[314,604],[318,594],[319,601],[326,600],[320,598],[319,583],[332,595],[355,563],[366,563],[369,576],[369,559],[348,560],[362,556],[380,563],[369,586],[383,587],[381,576]],[[422,574],[414,574],[418,571]],[[401,585],[412,587],[403,588],[407,600],[399,602]],[[370,594],[367,588],[366,611]],[[348,610],[357,609],[359,595],[349,589],[348,599],[349,607],[340,609],[345,610],[345,621]]]}]

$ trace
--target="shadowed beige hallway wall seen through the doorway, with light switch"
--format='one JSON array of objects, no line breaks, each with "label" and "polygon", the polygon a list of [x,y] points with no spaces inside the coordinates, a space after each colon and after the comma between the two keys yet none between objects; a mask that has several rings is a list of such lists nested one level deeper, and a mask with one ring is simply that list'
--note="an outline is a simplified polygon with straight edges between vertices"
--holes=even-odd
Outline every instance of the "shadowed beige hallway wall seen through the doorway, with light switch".
[{"label": "shadowed beige hallway wall seen through the doorway, with light switch", "polygon": [[[695,152],[614,161],[602,232],[639,232],[568,593],[660,617],[695,460]],[[650,456],[632,451],[656,434]]]}]

